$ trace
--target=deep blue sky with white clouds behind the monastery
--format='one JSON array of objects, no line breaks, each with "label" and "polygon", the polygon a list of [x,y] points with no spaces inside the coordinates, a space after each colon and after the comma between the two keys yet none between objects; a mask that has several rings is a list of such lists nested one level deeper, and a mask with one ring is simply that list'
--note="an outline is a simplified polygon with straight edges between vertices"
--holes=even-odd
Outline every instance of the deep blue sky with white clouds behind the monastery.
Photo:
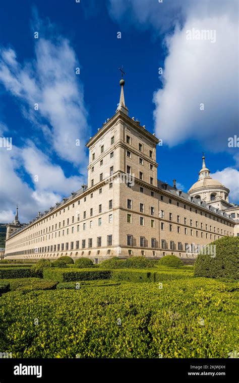
[{"label": "deep blue sky with white clouds behind the monastery", "polygon": [[[13,148],[0,148],[0,222],[13,219],[16,203],[27,222],[80,188],[84,144],[115,112],[121,65],[130,116],[163,139],[158,178],[176,178],[187,192],[205,152],[213,177],[239,203],[238,148],[228,148],[228,138],[238,136],[237,6],[198,3],[13,0],[1,6],[0,136],[12,137]],[[216,41],[187,41],[193,28],[215,30]],[[72,147],[77,138],[80,149]]]}]

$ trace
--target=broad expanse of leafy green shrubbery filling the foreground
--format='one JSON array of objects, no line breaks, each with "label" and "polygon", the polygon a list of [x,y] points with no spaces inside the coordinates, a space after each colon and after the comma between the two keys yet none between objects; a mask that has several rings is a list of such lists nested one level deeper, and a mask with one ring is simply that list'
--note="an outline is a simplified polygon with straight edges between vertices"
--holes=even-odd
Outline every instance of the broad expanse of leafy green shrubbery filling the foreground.
[{"label": "broad expanse of leafy green shrubbery filling the foreground", "polygon": [[238,347],[236,283],[229,284],[228,291],[218,280],[185,278],[162,289],[9,292],[1,297],[1,347],[13,358],[228,358]]}]

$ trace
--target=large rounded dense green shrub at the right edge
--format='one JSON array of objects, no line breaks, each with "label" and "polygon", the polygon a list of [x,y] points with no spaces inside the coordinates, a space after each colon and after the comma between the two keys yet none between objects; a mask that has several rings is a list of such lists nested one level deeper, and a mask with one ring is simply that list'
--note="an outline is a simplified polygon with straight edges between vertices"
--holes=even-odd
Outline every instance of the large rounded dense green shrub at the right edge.
[{"label": "large rounded dense green shrub at the right edge", "polygon": [[216,256],[199,254],[194,267],[195,277],[237,279],[239,237],[226,236],[210,245],[216,246]]}]

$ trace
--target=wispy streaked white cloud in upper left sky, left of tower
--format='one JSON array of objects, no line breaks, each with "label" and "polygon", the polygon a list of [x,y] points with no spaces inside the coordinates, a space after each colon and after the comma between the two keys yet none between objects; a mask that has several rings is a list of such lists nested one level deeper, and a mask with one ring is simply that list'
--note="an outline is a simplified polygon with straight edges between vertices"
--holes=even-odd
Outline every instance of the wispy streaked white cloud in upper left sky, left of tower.
[{"label": "wispy streaked white cloud in upper left sky, left of tower", "polygon": [[[48,140],[46,146],[62,159],[84,168],[89,126],[83,86],[80,75],[76,75],[79,61],[70,42],[61,37],[54,43],[36,39],[35,54],[35,60],[22,66],[12,48],[2,48],[0,82],[23,101],[24,116],[42,130]],[[76,140],[80,140],[80,146]]]}]

